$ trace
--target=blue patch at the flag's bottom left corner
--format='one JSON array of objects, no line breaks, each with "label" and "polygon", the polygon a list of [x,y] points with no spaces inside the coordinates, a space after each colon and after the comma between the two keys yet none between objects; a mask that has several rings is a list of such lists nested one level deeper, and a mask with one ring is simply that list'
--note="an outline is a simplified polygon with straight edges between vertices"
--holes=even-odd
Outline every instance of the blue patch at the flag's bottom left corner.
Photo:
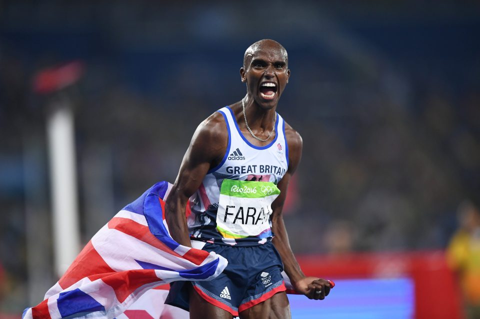
[{"label": "blue patch at the flag's bottom left corner", "polygon": [[62,318],[80,312],[105,311],[98,301],[78,288],[60,292],[56,304]]}]

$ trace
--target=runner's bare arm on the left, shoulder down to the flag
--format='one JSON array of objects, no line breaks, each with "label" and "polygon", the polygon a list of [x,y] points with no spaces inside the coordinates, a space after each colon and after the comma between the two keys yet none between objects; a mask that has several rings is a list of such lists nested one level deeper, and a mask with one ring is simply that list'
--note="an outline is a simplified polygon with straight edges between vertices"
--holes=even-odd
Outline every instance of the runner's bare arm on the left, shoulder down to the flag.
[{"label": "runner's bare arm on the left, shoulder down to the flag", "polygon": [[188,198],[198,189],[210,167],[220,162],[228,143],[226,124],[218,112],[198,125],[183,156],[175,183],[165,202],[171,237],[191,246],[185,217]]}]

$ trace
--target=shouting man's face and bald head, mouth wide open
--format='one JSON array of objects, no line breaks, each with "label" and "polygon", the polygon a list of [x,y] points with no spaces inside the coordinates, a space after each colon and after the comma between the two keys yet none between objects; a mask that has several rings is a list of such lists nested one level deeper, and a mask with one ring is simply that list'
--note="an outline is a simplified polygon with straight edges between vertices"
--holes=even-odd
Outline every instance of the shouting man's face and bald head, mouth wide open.
[{"label": "shouting man's face and bald head, mouth wide open", "polygon": [[240,68],[241,80],[247,83],[248,95],[260,107],[273,108],[290,76],[286,51],[268,40],[250,48],[244,67]]}]

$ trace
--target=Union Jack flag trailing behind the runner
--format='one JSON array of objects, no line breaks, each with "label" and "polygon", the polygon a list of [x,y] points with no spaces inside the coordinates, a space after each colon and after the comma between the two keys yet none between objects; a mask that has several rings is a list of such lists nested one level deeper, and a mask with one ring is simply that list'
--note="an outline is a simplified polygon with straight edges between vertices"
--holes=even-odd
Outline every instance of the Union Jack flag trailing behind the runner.
[{"label": "Union Jack flag trailing behind the runner", "polygon": [[170,188],[168,182],[158,182],[121,209],[22,318],[114,318],[153,287],[220,274],[225,258],[170,237],[164,216]]}]

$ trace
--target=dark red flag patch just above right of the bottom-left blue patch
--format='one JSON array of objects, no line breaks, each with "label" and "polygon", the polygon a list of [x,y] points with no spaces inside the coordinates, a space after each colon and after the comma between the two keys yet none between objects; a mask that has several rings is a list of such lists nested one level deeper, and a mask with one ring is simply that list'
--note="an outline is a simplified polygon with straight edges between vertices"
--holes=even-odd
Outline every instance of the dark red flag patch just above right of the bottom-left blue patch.
[{"label": "dark red flag patch just above right of the bottom-left blue patch", "polygon": [[161,279],[156,276],[154,269],[137,269],[116,272],[101,280],[112,287],[116,298],[121,303],[140,286]]}]

